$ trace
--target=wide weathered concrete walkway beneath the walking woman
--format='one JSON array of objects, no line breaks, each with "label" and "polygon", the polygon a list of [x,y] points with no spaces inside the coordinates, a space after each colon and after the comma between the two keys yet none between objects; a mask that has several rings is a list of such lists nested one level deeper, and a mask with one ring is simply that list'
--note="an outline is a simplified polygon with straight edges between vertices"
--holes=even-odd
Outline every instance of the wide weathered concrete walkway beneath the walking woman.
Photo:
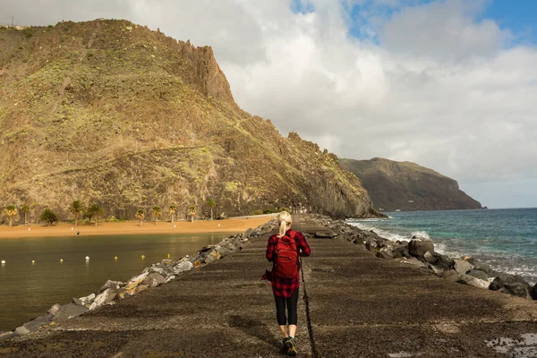
[{"label": "wide weathered concrete walkway beneath the walking woman", "polygon": [[[297,221],[297,220],[295,220]],[[320,226],[299,221],[296,229]],[[0,357],[277,357],[268,237],[113,306],[0,343]],[[310,239],[303,357],[537,357],[537,303],[451,283],[359,245]]]}]

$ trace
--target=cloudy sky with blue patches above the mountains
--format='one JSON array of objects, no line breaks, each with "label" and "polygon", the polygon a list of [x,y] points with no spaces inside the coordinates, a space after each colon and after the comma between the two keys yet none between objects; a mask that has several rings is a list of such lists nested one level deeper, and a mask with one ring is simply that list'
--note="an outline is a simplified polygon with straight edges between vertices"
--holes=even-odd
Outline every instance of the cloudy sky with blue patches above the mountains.
[{"label": "cloudy sky with blue patches above the mountains", "polygon": [[0,24],[127,19],[211,46],[235,101],[341,158],[537,207],[533,0],[0,0]]}]

